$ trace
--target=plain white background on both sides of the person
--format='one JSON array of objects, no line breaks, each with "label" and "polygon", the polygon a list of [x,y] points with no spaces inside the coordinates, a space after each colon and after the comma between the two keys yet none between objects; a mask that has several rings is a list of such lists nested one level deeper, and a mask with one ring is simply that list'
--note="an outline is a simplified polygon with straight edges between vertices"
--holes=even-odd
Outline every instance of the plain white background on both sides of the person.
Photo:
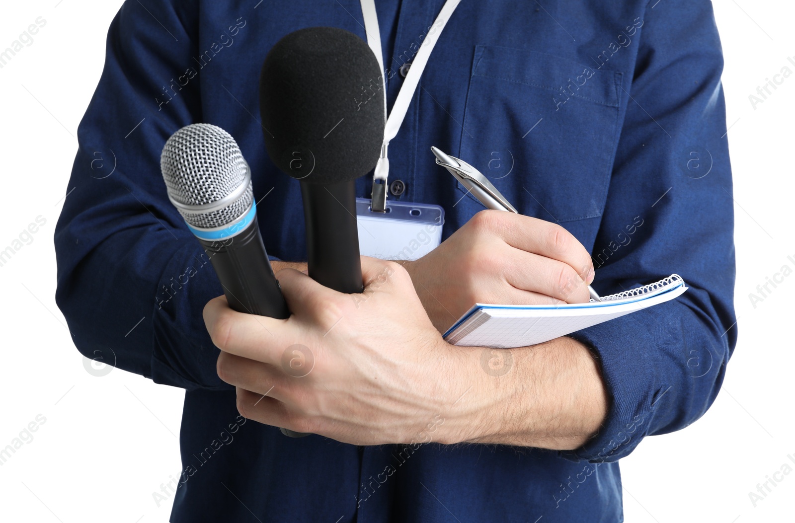
[{"label": "plain white background on both sides of the person", "polygon": [[[0,48],[37,17],[47,21],[33,44],[0,69],[0,249],[37,215],[46,219],[33,243],[0,267],[0,447],[37,415],[46,418],[0,466],[3,521],[168,521],[171,498],[158,507],[152,494],[180,472],[183,392],[122,370],[89,373],[53,297],[52,232],[77,125],[120,5],[48,0],[0,7]],[[783,463],[795,467],[787,458],[795,459],[795,276],[755,308],[748,295],[781,265],[795,265],[787,259],[795,258],[795,78],[755,109],[748,97],[784,66],[795,71],[787,61],[795,56],[795,7],[720,0],[715,12],[735,175],[739,344],[712,409],[683,431],[646,438],[622,461],[630,523],[793,521],[795,474],[755,507],[749,492]]]}]

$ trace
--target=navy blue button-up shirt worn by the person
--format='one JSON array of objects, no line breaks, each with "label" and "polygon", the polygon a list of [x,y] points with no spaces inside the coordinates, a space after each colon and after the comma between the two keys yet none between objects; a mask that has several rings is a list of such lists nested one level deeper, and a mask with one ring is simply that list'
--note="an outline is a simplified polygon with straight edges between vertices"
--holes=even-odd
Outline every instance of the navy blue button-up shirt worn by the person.
[{"label": "navy blue button-up shirt worn by the person", "polygon": [[[390,107],[443,3],[377,2]],[[266,156],[258,75],[273,44],[315,25],[365,36],[357,0],[126,2],[80,123],[56,300],[83,354],[112,347],[118,367],[186,389],[172,521],[622,521],[618,460],[703,415],[735,346],[711,3],[463,0],[390,144],[401,200],[442,205],[445,238],[483,207],[434,164],[431,145],[486,173],[522,214],[579,238],[600,293],[684,277],[677,300],[572,335],[597,356],[609,398],[603,426],[575,451],[356,447],[238,416],[201,316],[222,289],[166,197],[160,153],[182,126],[223,127],[252,168],[269,254],[304,260],[299,184]],[[359,180],[359,196],[370,184]]]}]

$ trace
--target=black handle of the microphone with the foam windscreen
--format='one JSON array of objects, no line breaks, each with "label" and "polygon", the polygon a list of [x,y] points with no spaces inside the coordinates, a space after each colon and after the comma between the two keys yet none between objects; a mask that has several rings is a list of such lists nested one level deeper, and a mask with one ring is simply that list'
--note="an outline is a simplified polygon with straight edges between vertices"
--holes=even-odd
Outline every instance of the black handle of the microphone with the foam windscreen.
[{"label": "black handle of the microphone with the foam windscreen", "polygon": [[309,277],[346,294],[362,292],[355,180],[332,185],[301,182]]}]

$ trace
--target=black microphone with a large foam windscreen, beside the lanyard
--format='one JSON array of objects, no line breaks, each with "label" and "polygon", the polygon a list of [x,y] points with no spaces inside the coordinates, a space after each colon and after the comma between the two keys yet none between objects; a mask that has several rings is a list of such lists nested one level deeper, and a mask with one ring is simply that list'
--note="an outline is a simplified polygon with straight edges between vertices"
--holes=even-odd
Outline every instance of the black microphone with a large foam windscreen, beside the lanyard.
[{"label": "black microphone with a large foam windscreen, beside the lanyard", "polygon": [[355,180],[374,168],[384,138],[381,70],[370,47],[333,27],[289,33],[262,64],[259,104],[266,149],[301,180],[309,276],[362,292]]}]

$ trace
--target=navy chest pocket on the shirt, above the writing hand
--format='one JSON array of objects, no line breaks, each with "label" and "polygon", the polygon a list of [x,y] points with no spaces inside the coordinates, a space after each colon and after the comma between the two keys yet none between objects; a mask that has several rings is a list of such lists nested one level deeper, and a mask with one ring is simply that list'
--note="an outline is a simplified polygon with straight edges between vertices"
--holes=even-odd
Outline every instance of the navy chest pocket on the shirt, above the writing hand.
[{"label": "navy chest pocket on the shirt, above the writing hand", "polygon": [[600,216],[619,139],[621,82],[620,72],[560,56],[478,45],[460,157],[524,215]]}]

